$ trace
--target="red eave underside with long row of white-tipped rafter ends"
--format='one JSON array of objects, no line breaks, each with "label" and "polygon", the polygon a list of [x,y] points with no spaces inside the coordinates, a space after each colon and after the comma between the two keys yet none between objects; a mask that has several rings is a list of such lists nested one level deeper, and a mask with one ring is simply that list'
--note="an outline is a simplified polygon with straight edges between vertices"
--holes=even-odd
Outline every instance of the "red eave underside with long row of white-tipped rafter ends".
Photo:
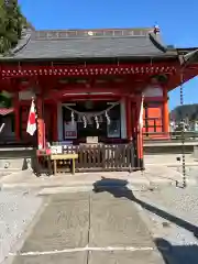
[{"label": "red eave underside with long row of white-tipped rafter ends", "polygon": [[177,70],[176,65],[169,63],[147,64],[112,64],[112,65],[2,65],[3,77],[33,77],[33,76],[121,76],[121,75],[155,75],[173,74]]}]

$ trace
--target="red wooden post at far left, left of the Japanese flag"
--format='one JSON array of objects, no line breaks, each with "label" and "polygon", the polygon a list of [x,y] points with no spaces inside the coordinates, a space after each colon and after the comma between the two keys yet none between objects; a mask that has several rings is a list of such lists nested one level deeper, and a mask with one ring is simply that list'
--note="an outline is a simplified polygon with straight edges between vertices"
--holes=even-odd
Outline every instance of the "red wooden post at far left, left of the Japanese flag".
[{"label": "red wooden post at far left, left of the Japanese flag", "polygon": [[20,101],[19,101],[19,91],[14,94],[13,97],[13,108],[14,108],[14,132],[15,132],[15,140],[21,140],[21,131],[20,131]]}]

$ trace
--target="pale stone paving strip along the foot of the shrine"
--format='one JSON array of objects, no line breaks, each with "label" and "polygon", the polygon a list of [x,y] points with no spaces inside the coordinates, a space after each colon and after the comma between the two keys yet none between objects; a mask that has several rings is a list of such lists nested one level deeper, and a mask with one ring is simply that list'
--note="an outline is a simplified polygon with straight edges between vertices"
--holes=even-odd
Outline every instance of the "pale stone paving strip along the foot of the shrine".
[{"label": "pale stone paving strip along the foot of the shrine", "polygon": [[[197,168],[197,167],[196,167]],[[124,179],[128,180],[128,187],[131,189],[147,188],[150,185],[175,185],[176,182],[182,182],[183,177],[176,168],[170,168],[162,165],[150,165],[142,172],[101,172],[101,173],[78,173],[76,175],[61,174],[57,176],[42,176],[36,177],[31,170],[23,170],[13,173],[0,178],[1,189],[44,189],[52,191],[52,188],[59,188],[59,191],[74,191],[91,190],[92,184],[100,180],[102,177],[109,179]],[[189,185],[198,183],[198,177],[189,175],[187,182]],[[50,190],[51,188],[51,190]]]}]

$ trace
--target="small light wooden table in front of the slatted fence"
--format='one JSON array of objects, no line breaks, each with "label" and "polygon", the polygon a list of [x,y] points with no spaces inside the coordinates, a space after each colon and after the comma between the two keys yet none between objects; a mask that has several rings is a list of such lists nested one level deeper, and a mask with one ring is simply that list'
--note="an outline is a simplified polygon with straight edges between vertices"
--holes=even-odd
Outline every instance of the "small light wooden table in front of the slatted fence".
[{"label": "small light wooden table in front of the slatted fence", "polygon": [[72,174],[75,174],[75,160],[78,158],[78,154],[52,154],[51,161],[53,161],[54,164],[54,175],[57,173],[57,161],[64,160],[64,161],[70,161],[70,167],[72,167]]}]

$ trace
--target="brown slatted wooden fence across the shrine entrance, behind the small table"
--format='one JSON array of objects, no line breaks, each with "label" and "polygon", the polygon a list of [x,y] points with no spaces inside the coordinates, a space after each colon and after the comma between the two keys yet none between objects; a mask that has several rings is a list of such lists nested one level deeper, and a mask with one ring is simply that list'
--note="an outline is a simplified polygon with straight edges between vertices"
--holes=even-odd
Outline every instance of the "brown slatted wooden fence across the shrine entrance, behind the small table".
[{"label": "brown slatted wooden fence across the shrine entrance, behind the small table", "polygon": [[[122,172],[138,168],[138,160],[132,143],[130,144],[82,144],[64,145],[63,153],[76,153],[77,172]],[[57,172],[65,172],[68,163],[58,161]]]}]

